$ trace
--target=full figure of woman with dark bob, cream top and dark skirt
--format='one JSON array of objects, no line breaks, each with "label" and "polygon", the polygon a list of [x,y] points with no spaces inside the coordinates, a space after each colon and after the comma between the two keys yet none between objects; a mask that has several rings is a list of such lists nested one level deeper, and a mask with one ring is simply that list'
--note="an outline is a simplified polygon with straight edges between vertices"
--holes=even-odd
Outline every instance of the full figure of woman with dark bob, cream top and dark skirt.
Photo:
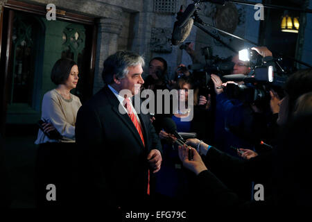
[{"label": "full figure of woman with dark bob, cream top and dark skirt", "polygon": [[[51,80],[57,87],[44,94],[42,100],[42,124],[35,144],[37,152],[37,199],[39,206],[60,206],[69,200],[72,153],[75,146],[75,123],[80,99],[70,93],[78,83],[78,66],[67,58],[55,62]],[[59,138],[47,134],[57,130]],[[55,185],[56,200],[46,200],[46,186]],[[68,189],[67,189],[68,188]],[[66,199],[66,200],[65,200]],[[53,200],[53,199],[52,199]]]}]

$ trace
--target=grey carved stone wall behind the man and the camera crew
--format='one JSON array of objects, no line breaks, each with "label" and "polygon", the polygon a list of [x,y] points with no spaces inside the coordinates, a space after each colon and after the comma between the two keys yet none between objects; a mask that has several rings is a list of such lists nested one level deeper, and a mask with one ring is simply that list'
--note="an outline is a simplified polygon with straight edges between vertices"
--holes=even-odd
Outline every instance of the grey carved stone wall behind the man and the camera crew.
[{"label": "grey carved stone wall behind the man and the camera crew", "polygon": [[[175,67],[180,63],[185,65],[191,64],[191,59],[185,51],[181,51],[179,46],[171,46],[168,44],[168,42],[170,43],[170,35],[173,30],[176,14],[173,12],[154,12],[155,0],[22,1],[42,5],[55,3],[57,8],[97,18],[98,42],[96,49],[94,93],[103,87],[103,81],[101,79],[103,61],[107,56],[119,49],[127,49],[140,53],[146,59],[146,63],[155,56],[161,56],[167,60],[168,71],[171,75],[173,75]],[[192,2],[191,0],[176,0],[175,12],[180,9],[180,5],[184,5],[185,9],[189,3]],[[261,0],[257,0],[257,2],[261,2]],[[0,0],[0,3],[3,3],[3,0]],[[216,12],[216,6],[211,3],[202,3],[199,7],[201,9],[200,17],[202,20],[207,24],[214,25],[212,17],[214,17],[214,13]],[[236,4],[235,7],[239,13],[239,24],[233,32],[234,35],[239,35],[240,37],[257,42],[260,21],[256,21],[253,18],[255,12],[254,8],[252,6],[241,6],[239,4]],[[307,20],[309,20],[309,16],[310,15],[308,15]],[[220,33],[214,29],[206,28],[211,33],[218,35],[224,42],[227,42],[236,50],[249,46],[241,40],[236,40],[234,37],[220,35]],[[306,49],[306,51],[303,52],[306,56],[303,56],[302,59],[311,58],[311,50],[309,51],[311,47],[307,43],[312,33],[310,29],[306,26],[305,35],[308,37],[306,37],[306,42],[304,43],[304,46],[306,46],[304,49]],[[159,34],[162,32],[166,33],[163,37]],[[152,35],[152,33],[157,33],[157,35]],[[157,46],[157,41],[159,41],[160,46]],[[221,58],[226,58],[234,54],[196,26],[193,26],[191,34],[185,42],[195,43],[196,55],[201,62],[205,62],[204,57],[200,53],[200,49],[204,46],[211,46],[213,55],[218,55]],[[147,74],[147,67],[148,65],[144,68],[145,74]]]}]

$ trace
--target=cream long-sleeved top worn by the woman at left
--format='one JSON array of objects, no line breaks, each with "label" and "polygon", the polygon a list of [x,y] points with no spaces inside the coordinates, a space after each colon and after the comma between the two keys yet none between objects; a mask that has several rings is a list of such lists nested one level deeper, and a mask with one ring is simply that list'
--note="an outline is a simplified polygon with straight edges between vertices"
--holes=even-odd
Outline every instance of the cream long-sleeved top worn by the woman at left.
[{"label": "cream long-sleeved top worn by the woman at left", "polygon": [[[75,142],[75,123],[77,112],[81,106],[78,96],[70,94],[71,99],[64,99],[56,89],[44,94],[42,100],[41,119],[46,119],[63,136],[60,142]],[[38,131],[35,144],[57,142],[49,139],[42,130]]]}]

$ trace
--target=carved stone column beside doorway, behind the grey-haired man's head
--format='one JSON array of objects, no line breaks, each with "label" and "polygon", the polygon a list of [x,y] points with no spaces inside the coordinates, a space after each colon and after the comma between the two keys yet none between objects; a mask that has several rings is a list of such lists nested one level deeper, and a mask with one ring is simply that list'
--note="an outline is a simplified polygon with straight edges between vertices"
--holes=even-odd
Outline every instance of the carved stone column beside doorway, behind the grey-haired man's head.
[{"label": "carved stone column beside doorway, behind the grey-haired man's head", "polygon": [[102,71],[104,60],[118,49],[118,37],[123,25],[119,20],[102,18],[98,20],[98,41],[96,49],[96,65],[94,73],[95,94],[103,86]]}]

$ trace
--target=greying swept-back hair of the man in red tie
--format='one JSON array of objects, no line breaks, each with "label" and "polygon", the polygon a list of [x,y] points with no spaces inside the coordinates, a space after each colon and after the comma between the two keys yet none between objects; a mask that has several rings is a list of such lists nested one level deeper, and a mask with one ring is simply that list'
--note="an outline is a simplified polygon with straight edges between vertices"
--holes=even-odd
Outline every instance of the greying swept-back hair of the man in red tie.
[{"label": "greying swept-back hair of the man in red tie", "polygon": [[104,61],[102,78],[104,83],[114,83],[114,75],[116,78],[124,78],[129,70],[128,67],[141,65],[144,67],[144,58],[137,53],[131,51],[117,51]]}]

